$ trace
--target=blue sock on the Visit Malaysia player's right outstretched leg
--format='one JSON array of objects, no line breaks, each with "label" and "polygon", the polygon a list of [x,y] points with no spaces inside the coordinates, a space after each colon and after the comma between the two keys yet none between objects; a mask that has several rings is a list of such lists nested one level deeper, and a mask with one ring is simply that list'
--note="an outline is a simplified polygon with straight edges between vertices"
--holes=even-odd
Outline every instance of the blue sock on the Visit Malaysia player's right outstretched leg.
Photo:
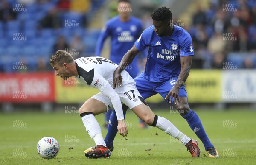
[{"label": "blue sock on the Visit Malaysia player's right outstretched leg", "polygon": [[189,123],[190,128],[195,132],[196,136],[203,142],[205,150],[207,147],[214,147],[207,137],[204,127],[198,115],[190,109],[189,113],[183,116]]}]

